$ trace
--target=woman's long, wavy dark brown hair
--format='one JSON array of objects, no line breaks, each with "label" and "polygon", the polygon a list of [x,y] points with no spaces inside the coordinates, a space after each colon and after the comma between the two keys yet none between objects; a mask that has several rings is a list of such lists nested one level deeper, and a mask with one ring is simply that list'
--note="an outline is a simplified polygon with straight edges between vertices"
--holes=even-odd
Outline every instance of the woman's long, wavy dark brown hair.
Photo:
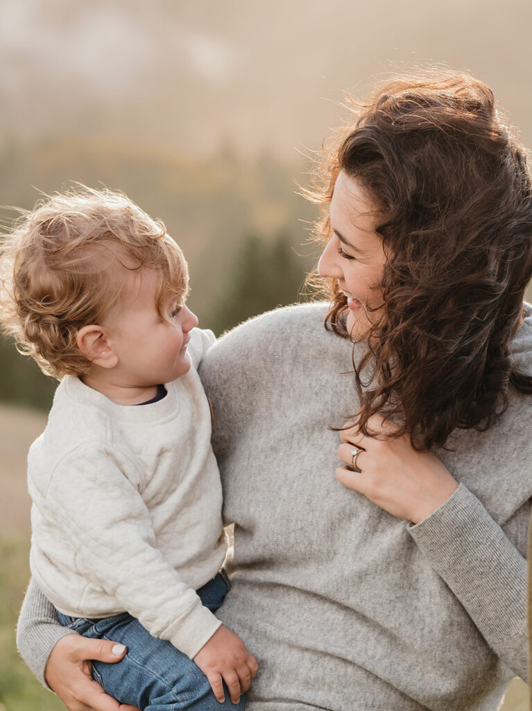
[{"label": "woman's long, wavy dark brown hair", "polygon": [[[359,427],[376,412],[396,419],[414,447],[443,446],[455,427],[490,427],[509,384],[532,392],[514,368],[511,338],[532,277],[532,191],[526,151],[492,90],[465,73],[427,70],[379,85],[352,122],[324,143],[315,225],[328,216],[340,171],[367,191],[386,264],[384,309],[374,311],[354,375]],[[347,336],[346,297],[327,282],[326,326]]]}]

